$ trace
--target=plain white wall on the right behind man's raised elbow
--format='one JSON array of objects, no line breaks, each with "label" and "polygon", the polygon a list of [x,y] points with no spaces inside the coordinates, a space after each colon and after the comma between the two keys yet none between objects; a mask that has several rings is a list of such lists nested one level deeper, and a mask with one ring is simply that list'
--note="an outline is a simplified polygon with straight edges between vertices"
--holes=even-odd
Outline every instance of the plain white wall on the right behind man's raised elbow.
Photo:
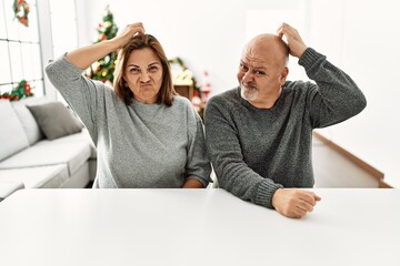
[{"label": "plain white wall on the right behind man's raised elbow", "polygon": [[396,0],[312,3],[310,43],[347,71],[368,100],[360,115],[323,133],[400,187],[400,119],[396,109],[400,99],[400,4]]}]

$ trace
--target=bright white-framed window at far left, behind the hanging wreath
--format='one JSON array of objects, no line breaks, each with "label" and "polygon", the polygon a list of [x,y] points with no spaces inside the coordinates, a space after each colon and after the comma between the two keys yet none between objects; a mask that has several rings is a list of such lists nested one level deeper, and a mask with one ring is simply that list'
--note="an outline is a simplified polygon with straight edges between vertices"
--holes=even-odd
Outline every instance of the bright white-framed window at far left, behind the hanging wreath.
[{"label": "bright white-framed window at far left, behind the hanging wreath", "polygon": [[43,71],[40,52],[37,6],[29,1],[29,27],[13,13],[13,0],[0,2],[0,92],[10,92],[22,79],[43,95]]}]

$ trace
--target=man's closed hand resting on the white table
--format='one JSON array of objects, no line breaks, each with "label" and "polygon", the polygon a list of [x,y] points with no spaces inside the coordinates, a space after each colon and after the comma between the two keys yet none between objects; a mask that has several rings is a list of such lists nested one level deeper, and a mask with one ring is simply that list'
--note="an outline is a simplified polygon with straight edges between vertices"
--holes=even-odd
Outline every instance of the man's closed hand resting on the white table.
[{"label": "man's closed hand resting on the white table", "polygon": [[291,217],[301,218],[312,212],[317,202],[321,198],[313,192],[298,188],[278,188],[272,196],[272,206],[278,213]]}]

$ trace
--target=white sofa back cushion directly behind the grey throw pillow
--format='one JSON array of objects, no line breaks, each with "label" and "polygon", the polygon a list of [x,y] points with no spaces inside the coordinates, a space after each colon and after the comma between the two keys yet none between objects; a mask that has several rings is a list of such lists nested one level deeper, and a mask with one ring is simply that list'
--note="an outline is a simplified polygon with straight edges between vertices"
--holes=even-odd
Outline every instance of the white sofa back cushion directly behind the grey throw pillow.
[{"label": "white sofa back cushion directly behind the grey throw pillow", "polygon": [[47,98],[27,98],[11,103],[27,134],[29,145],[42,140],[44,135],[27,105],[48,102],[51,100]]}]

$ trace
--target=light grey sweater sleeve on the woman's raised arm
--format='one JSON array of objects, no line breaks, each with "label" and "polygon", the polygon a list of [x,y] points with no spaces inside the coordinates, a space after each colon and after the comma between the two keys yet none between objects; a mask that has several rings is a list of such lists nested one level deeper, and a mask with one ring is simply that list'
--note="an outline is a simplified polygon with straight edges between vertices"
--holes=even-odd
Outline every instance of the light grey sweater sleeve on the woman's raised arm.
[{"label": "light grey sweater sleeve on the woman's raised arm", "polygon": [[[66,57],[49,63],[46,73],[50,82],[61,93],[72,110],[88,129],[94,144],[97,143],[97,99],[99,88],[104,86],[82,75],[83,70],[70,63]],[[98,95],[100,94],[100,95]]]}]

